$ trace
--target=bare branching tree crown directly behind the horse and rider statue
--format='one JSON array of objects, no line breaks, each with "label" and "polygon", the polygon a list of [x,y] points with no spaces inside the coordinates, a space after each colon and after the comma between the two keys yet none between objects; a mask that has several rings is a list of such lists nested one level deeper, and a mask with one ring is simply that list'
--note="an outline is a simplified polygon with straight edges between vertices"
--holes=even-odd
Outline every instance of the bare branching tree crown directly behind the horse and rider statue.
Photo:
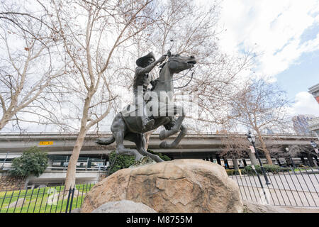
[{"label": "bare branching tree crown directly behind the horse and rider statue", "polygon": [[[175,101],[188,112],[185,123],[189,131],[203,132],[214,123],[225,123],[226,107],[237,89],[240,72],[250,67],[252,55],[230,57],[218,48],[218,35],[222,32],[218,28],[218,1],[198,6],[194,1],[169,0],[159,6],[163,9],[159,21],[133,38],[136,50],[130,58],[137,59],[151,50],[165,54],[171,48],[172,53],[196,56],[194,74],[179,74],[174,80],[175,87],[180,87],[175,89]],[[133,72],[123,69],[120,77],[123,82],[133,80]],[[130,84],[123,87],[130,88]],[[198,112],[192,112],[194,105],[198,105]]]}]

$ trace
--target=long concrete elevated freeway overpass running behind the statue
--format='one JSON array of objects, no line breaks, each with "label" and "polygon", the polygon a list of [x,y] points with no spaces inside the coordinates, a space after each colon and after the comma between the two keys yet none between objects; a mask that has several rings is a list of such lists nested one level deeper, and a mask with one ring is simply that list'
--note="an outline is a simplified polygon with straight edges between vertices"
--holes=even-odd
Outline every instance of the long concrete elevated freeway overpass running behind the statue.
[{"label": "long concrete elevated freeway overpass running behind the statue", "polygon": [[[81,155],[88,157],[106,157],[115,150],[116,143],[101,146],[94,143],[96,138],[108,137],[111,133],[87,133],[84,140]],[[179,158],[205,158],[216,157],[223,148],[223,134],[188,134],[181,140],[178,148],[159,148],[158,134],[150,136],[149,149],[157,153],[163,153],[174,159]],[[245,137],[244,134],[242,134]],[[167,139],[172,142],[176,138]],[[77,133],[0,133],[0,158],[4,155],[20,156],[23,150],[32,146],[38,146],[46,150],[49,155],[71,155],[73,146],[77,140]],[[289,145],[310,145],[310,140],[316,140],[310,135],[264,135],[267,144],[281,145],[286,148]],[[134,144],[125,141],[127,148],[134,148]]]}]

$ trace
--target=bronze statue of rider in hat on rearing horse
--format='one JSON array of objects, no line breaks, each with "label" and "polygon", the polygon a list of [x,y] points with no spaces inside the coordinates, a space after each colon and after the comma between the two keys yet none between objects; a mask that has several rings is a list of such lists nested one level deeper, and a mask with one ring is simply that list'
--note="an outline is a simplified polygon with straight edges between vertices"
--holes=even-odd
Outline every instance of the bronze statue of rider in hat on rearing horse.
[{"label": "bronze statue of rider in hat on rearing horse", "polygon": [[[164,60],[167,61],[164,62]],[[158,64],[162,63],[159,77],[152,80],[149,72]],[[174,92],[174,74],[191,69],[196,64],[194,56],[163,55],[159,60],[155,60],[152,52],[144,57],[140,57],[136,64],[135,78],[133,82],[133,93],[135,104],[126,106],[113,119],[110,138],[99,138],[96,143],[100,145],[110,145],[116,141],[117,155],[134,155],[135,160],[140,160],[147,156],[156,162],[163,160],[158,155],[153,155],[145,150],[145,135],[148,131],[155,130],[159,126],[164,126],[164,130],[159,133],[159,139],[164,140],[179,132],[179,135],[172,143],[163,141],[160,148],[176,148],[179,142],[187,133],[187,128],[182,123],[185,112],[182,106],[177,106],[172,102]],[[152,84],[152,91],[147,90],[147,86]],[[150,94],[145,98],[147,91]],[[163,98],[164,96],[164,98]],[[151,104],[151,105],[149,105]],[[151,108],[145,108],[145,107]],[[151,115],[145,109],[152,109]],[[176,116],[179,116],[176,118]],[[134,142],[136,149],[128,149],[123,145],[124,140]]]}]

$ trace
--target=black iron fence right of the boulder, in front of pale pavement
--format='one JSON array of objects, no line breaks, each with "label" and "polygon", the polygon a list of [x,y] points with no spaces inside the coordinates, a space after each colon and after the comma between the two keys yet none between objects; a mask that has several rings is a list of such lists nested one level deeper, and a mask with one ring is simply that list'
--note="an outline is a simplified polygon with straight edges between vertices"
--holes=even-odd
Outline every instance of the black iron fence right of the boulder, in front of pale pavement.
[{"label": "black iron fence right of the boulder, in front of pale pavement", "polygon": [[[234,170],[243,200],[273,206],[319,207],[319,170],[311,167]],[[269,184],[266,184],[266,179]]]}]

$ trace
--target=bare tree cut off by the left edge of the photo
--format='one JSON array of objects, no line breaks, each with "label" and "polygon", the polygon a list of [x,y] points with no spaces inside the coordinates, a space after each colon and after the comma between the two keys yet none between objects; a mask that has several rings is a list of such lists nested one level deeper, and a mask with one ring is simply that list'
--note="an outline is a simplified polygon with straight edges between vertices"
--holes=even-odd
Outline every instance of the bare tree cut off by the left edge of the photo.
[{"label": "bare tree cut off by the left edge of the photo", "polygon": [[[54,124],[50,102],[56,79],[65,74],[57,42],[45,20],[14,3],[1,3],[0,12],[0,131],[9,121]],[[43,15],[45,17],[45,15]],[[56,109],[56,107],[55,107]]]}]

